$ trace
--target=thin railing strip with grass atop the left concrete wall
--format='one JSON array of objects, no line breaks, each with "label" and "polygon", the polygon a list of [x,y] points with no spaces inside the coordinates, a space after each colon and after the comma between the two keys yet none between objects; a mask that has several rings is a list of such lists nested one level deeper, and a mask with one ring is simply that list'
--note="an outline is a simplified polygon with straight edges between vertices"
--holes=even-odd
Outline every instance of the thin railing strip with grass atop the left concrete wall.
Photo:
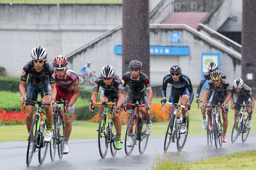
[{"label": "thin railing strip with grass atop the left concrete wall", "polygon": [[70,3],[70,4],[122,4],[123,0],[0,0],[0,3],[11,4],[57,4],[57,3]]}]

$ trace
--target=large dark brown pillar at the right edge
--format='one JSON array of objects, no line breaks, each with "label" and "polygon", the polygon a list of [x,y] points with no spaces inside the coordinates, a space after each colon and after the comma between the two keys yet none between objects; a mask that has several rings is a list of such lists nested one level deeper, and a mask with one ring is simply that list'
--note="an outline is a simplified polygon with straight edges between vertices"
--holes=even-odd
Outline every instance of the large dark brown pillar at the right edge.
[{"label": "large dark brown pillar at the right edge", "polygon": [[242,79],[256,95],[256,1],[243,0]]}]

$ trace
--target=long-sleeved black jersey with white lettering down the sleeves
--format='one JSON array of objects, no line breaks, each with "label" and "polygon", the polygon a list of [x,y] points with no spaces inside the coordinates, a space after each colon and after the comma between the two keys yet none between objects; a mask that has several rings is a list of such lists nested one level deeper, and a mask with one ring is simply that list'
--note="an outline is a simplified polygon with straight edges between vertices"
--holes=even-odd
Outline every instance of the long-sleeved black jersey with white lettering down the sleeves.
[{"label": "long-sleeved black jersey with white lettering down the sleeves", "polygon": [[170,73],[166,74],[163,77],[163,87],[162,87],[162,97],[166,97],[166,89],[167,85],[170,83],[173,87],[177,89],[181,88],[188,88],[189,91],[189,103],[191,104],[194,98],[194,93],[193,93],[193,87],[191,84],[191,81],[188,77],[188,75],[182,73],[180,75],[180,78],[175,82],[173,78],[171,77]]}]

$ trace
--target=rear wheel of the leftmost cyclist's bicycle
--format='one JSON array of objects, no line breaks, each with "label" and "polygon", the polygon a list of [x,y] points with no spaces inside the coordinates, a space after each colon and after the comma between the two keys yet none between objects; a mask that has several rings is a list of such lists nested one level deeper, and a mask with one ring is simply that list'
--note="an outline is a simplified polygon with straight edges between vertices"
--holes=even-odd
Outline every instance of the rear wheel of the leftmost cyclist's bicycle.
[{"label": "rear wheel of the leftmost cyclist's bicycle", "polygon": [[[40,164],[42,164],[43,161],[45,160],[45,156],[46,156],[48,145],[49,145],[49,142],[43,141],[43,138],[45,138],[45,134],[47,131],[46,125],[47,125],[47,121],[45,120],[45,124],[42,125],[43,126],[42,132],[40,133],[40,136],[41,136],[40,142],[41,143],[40,143],[40,148],[39,148],[39,153],[38,153],[38,160],[39,160]],[[40,127],[40,129],[41,129],[41,127]]]}]

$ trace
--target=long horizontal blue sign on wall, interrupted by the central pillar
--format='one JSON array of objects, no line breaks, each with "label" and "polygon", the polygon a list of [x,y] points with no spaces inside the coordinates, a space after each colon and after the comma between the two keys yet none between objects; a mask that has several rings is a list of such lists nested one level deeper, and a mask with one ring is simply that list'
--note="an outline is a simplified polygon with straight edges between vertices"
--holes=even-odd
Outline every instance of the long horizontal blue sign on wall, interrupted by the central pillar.
[{"label": "long horizontal blue sign on wall, interrupted by the central pillar", "polygon": [[[118,45],[114,47],[115,54],[122,54],[122,46]],[[163,46],[150,46],[150,55],[175,55],[175,56],[187,56],[189,55],[189,47],[163,47]]]}]

